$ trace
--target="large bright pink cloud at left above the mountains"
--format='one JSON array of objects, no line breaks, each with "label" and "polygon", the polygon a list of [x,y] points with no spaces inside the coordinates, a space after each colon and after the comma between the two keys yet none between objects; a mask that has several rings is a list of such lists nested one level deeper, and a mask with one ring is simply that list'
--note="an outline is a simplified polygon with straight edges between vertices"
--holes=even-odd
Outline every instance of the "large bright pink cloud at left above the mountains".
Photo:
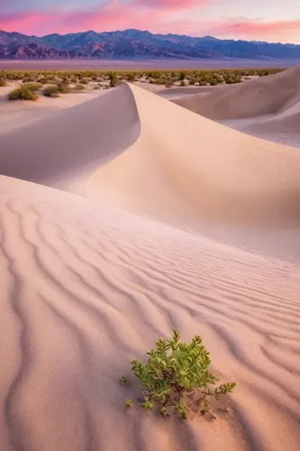
[{"label": "large bright pink cloud at left above the mountains", "polygon": [[[1,1],[1,0],[0,0]],[[172,27],[169,16],[173,12],[186,11],[214,0],[107,0],[105,5],[90,10],[23,12],[0,14],[0,29],[7,32],[46,34],[49,32],[80,32],[93,29],[96,32],[125,28],[159,29],[162,23]],[[166,19],[168,17],[168,24]]]}]

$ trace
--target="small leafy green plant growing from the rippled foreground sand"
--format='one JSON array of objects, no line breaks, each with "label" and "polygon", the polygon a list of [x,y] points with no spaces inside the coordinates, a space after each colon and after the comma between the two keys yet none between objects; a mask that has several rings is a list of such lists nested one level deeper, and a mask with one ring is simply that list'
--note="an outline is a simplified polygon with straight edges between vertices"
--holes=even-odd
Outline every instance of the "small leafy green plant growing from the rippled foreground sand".
[{"label": "small leafy green plant growing from the rippled foreground sand", "polygon": [[[141,407],[159,407],[164,417],[176,411],[186,419],[190,410],[205,415],[210,412],[208,398],[219,400],[221,395],[232,392],[235,382],[213,389],[219,378],[208,371],[211,360],[201,337],[195,336],[190,344],[179,343],[179,339],[174,329],[171,340],[159,338],[156,347],[146,353],[150,356],[146,364],[132,361],[134,376],[141,381]],[[123,377],[119,382],[125,385],[127,380]]]}]

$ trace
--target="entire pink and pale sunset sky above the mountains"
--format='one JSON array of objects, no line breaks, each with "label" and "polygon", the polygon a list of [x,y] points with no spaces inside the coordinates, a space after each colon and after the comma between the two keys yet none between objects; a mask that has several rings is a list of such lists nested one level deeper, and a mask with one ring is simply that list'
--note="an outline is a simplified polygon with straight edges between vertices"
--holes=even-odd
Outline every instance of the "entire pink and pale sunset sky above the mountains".
[{"label": "entire pink and pale sunset sky above the mountains", "polygon": [[300,0],[0,0],[0,30],[6,32],[128,28],[300,44]]}]

